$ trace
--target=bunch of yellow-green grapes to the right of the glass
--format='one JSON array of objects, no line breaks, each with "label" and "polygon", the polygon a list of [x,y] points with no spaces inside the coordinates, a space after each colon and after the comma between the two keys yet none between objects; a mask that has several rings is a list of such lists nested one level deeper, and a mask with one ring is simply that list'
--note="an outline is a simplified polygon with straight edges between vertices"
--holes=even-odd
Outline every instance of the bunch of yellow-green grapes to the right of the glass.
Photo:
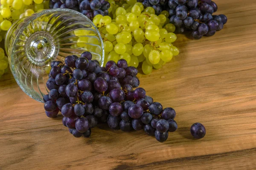
[{"label": "bunch of yellow-green grapes to the right of the glass", "polygon": [[179,54],[179,49],[172,45],[177,37],[168,11],[157,16],[154,8],[144,9],[136,0],[118,1],[123,3],[118,5],[113,0],[108,2],[110,16],[93,18],[104,41],[104,65],[109,60],[125,59],[137,68],[142,62],[143,73],[150,74],[153,68],[161,68]]}]

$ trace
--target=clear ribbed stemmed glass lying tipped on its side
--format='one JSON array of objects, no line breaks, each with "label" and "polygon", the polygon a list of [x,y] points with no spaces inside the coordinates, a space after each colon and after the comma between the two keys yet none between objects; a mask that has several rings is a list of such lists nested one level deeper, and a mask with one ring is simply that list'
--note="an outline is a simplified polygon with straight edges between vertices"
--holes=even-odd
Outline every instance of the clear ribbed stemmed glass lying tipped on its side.
[{"label": "clear ribbed stemmed glass lying tipped on its side", "polygon": [[6,34],[6,53],[12,74],[20,88],[43,102],[48,94],[50,63],[64,62],[68,55],[90,51],[101,66],[104,62],[102,37],[83,14],[71,9],[49,9],[17,20]]}]

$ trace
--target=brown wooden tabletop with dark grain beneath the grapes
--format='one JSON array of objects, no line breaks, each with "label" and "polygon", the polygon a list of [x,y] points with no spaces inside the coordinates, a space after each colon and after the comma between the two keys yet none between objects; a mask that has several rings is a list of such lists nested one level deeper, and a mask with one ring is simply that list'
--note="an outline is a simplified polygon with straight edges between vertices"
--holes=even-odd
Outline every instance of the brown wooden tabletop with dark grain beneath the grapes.
[{"label": "brown wooden tabletop with dark grain beneath the grapes", "polygon": [[[144,131],[125,133],[106,125],[89,139],[74,138],[62,116],[45,116],[44,105],[21,91],[11,74],[0,81],[1,170],[255,170],[256,2],[216,0],[227,14],[213,37],[178,35],[180,55],[141,85],[154,101],[173,107],[178,130],[166,142]],[[189,128],[201,122],[203,139]]]}]

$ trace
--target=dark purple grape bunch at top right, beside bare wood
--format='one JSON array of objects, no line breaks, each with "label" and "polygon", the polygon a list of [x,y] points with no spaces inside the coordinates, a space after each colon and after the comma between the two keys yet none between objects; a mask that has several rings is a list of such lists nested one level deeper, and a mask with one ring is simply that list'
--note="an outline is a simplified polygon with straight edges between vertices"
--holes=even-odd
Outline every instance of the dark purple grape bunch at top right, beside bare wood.
[{"label": "dark purple grape bunch at top right, beside bare wood", "polygon": [[212,0],[169,0],[168,5],[170,23],[176,26],[176,32],[190,30],[195,39],[212,36],[227,23],[224,14],[212,15],[218,9]]}]

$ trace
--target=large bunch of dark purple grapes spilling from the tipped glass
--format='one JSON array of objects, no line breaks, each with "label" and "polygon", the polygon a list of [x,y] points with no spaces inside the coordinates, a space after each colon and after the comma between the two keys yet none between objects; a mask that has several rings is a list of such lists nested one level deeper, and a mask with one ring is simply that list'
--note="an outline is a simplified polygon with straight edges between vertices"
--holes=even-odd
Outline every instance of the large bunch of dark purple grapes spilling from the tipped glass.
[{"label": "large bunch of dark purple grapes spilling from the tipped glass", "polygon": [[175,110],[163,109],[143,88],[137,88],[138,70],[125,59],[100,67],[90,52],[84,52],[80,58],[67,56],[65,63],[54,61],[51,67],[45,113],[53,118],[61,111],[63,125],[75,137],[89,137],[98,122],[123,131],[144,129],[159,142],[177,129]]}]

